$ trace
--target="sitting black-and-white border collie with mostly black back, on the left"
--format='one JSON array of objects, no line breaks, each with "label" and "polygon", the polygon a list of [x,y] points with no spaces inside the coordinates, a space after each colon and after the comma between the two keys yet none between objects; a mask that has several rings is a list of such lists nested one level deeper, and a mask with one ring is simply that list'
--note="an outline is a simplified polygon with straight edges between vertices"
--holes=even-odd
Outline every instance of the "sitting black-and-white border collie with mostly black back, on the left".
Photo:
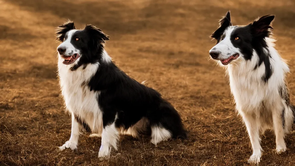
[{"label": "sitting black-and-white border collie with mostly black back, on the left", "polygon": [[60,25],[58,76],[66,109],[72,115],[71,137],[60,147],[76,149],[81,127],[101,136],[99,157],[117,150],[119,133],[151,133],[158,144],[187,138],[180,115],[157,91],[130,78],[104,50],[109,36],[93,25],[76,30],[74,22]]}]

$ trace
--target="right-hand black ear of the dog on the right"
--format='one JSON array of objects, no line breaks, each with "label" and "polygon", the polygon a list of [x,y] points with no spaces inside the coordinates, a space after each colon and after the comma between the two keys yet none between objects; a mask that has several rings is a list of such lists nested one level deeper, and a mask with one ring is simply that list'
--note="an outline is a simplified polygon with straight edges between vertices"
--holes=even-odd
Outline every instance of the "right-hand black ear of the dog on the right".
[{"label": "right-hand black ear of the dog on the right", "polygon": [[271,23],[273,19],[275,18],[274,15],[265,15],[260,18],[257,18],[253,21],[253,23],[250,23],[252,33],[254,36],[257,37],[269,37],[271,35]]}]

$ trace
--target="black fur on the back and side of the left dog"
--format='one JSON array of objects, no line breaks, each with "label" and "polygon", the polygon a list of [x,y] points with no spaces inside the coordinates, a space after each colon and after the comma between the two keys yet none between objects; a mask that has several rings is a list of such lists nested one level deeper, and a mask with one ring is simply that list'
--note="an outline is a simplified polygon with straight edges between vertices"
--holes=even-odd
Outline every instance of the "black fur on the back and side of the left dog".
[{"label": "black fur on the back and side of the left dog", "polygon": [[160,123],[174,138],[186,138],[179,114],[160,93],[130,78],[113,63],[102,65],[88,86],[100,91],[98,101],[104,113],[103,124],[113,123],[117,114],[116,126],[127,130],[146,117],[150,126]]}]

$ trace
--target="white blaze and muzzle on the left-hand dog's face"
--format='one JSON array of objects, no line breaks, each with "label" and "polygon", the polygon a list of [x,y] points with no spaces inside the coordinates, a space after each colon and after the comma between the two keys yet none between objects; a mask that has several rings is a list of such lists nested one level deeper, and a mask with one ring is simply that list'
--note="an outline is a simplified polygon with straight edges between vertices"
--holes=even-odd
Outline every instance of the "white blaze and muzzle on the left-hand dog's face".
[{"label": "white blaze and muzzle on the left-hand dog's face", "polygon": [[71,40],[72,40],[72,37],[73,37],[73,34],[78,31],[78,30],[70,30],[69,32],[67,32],[66,36],[66,40],[63,41],[63,43],[61,43],[58,48],[62,48],[65,50],[65,52],[63,53],[63,55],[65,56],[72,56],[73,54],[77,53],[79,54],[80,51],[77,50],[73,44],[71,43]]}]

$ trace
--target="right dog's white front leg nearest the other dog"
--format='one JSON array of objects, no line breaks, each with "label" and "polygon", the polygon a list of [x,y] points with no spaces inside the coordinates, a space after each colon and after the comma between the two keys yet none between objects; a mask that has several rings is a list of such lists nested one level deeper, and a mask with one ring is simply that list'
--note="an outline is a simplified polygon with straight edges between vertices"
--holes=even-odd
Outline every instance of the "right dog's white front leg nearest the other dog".
[{"label": "right dog's white front leg nearest the other dog", "polygon": [[248,162],[252,164],[258,164],[262,155],[262,148],[260,145],[259,137],[259,120],[256,115],[253,115],[251,113],[242,113],[241,111],[240,113],[246,125],[253,149],[253,154],[251,155]]}]

